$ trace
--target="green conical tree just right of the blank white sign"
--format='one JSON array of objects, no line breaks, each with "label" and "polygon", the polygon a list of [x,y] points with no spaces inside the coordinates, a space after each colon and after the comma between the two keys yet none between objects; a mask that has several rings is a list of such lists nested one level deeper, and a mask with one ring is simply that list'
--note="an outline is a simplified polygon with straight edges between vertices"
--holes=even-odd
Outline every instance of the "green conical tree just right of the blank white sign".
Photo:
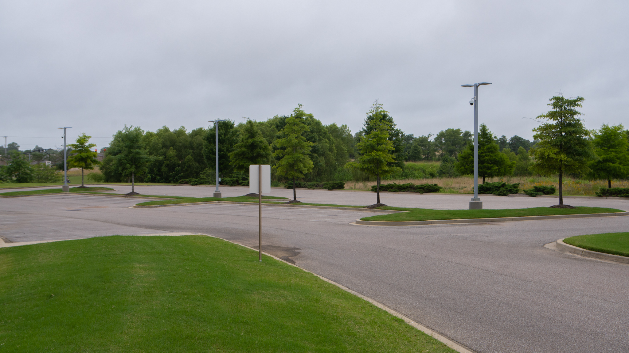
[{"label": "green conical tree just right of the blank white sign", "polygon": [[308,173],[313,169],[313,161],[308,157],[313,143],[306,141],[303,134],[308,131],[308,126],[304,124],[303,119],[297,117],[288,117],[286,126],[281,133],[284,136],[276,139],[277,147],[273,154],[277,161],[277,174],[292,179],[292,200],[297,201],[297,192],[295,187],[296,178],[303,178],[304,173]]}]

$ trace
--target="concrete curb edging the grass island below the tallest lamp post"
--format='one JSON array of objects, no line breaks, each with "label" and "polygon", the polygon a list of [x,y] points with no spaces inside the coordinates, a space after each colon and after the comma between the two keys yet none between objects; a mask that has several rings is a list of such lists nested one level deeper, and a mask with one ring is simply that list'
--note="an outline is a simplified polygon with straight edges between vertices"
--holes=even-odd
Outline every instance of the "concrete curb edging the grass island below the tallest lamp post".
[{"label": "concrete curb edging the grass island below the tallest lamp post", "polygon": [[499,218],[473,218],[473,219],[440,219],[440,220],[410,220],[407,222],[391,222],[377,220],[360,220],[353,225],[379,225],[379,226],[403,226],[403,225],[428,225],[428,224],[457,224],[457,223],[487,223],[487,222],[516,222],[520,220],[544,220],[544,219],[571,219],[591,217],[614,217],[629,215],[629,212],[615,212],[606,214],[572,214],[572,215],[534,215],[526,217],[499,217]]}]

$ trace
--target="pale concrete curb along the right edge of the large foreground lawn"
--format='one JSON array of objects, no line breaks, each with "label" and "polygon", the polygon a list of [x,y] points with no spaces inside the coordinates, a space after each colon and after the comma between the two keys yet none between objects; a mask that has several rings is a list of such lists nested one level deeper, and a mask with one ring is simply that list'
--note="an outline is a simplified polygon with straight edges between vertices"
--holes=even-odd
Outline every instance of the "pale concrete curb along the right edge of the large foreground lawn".
[{"label": "pale concrete curb along the right edge of the large foreground lawn", "polygon": [[[240,244],[238,242],[230,241],[228,239],[223,239],[221,237],[212,236],[210,234],[203,234],[203,235],[206,235],[208,237],[218,238],[218,239],[221,239],[221,240],[224,240],[224,241],[227,241],[227,242],[231,242],[232,244],[236,244],[236,245],[240,245],[240,246],[243,246],[243,247],[247,247],[247,249],[251,249],[253,251],[259,251],[259,249],[255,249],[255,247],[246,246],[244,244]],[[436,339],[439,342],[442,342],[443,344],[445,344],[448,347],[456,350],[459,353],[476,353],[474,350],[471,350],[471,349],[465,347],[464,345],[460,344],[459,342],[455,342],[454,340],[449,339],[448,337],[445,337],[444,335],[440,334],[439,332],[437,332],[435,330],[429,329],[428,327],[422,325],[421,323],[416,322],[412,318],[407,317],[403,313],[400,313],[397,310],[389,308],[386,305],[380,303],[379,301],[376,301],[376,300],[373,300],[372,298],[369,298],[369,296],[365,296],[365,295],[362,295],[362,294],[358,293],[357,291],[350,290],[350,288],[347,288],[346,286],[343,286],[340,283],[337,283],[335,281],[329,280],[328,278],[325,278],[325,277],[321,276],[320,274],[316,274],[316,273],[314,273],[312,271],[308,271],[307,269],[299,267],[296,264],[291,264],[288,261],[284,261],[283,259],[278,258],[277,256],[271,255],[269,253],[265,253],[264,251],[262,251],[262,254],[265,254],[266,256],[269,256],[270,258],[274,258],[274,259],[276,259],[278,261],[282,261],[282,263],[286,263],[286,264],[289,264],[290,266],[294,266],[296,268],[299,268],[302,271],[306,271],[308,273],[311,273],[311,274],[317,276],[318,278],[321,278],[321,280],[324,280],[324,281],[330,283],[331,285],[335,285],[338,288],[340,288],[340,289],[342,289],[344,291],[347,291],[347,293],[350,293],[352,295],[358,296],[359,298],[361,298],[363,300],[369,301],[369,303],[371,303],[372,305],[375,305],[376,307],[381,308],[382,310],[384,310],[385,312],[393,315],[394,317],[401,318],[402,320],[404,320],[404,322],[408,323],[408,325],[411,325],[412,327],[415,327],[415,329],[418,329],[421,332],[425,333],[426,335],[429,335],[430,337],[433,337],[433,339]]]}]

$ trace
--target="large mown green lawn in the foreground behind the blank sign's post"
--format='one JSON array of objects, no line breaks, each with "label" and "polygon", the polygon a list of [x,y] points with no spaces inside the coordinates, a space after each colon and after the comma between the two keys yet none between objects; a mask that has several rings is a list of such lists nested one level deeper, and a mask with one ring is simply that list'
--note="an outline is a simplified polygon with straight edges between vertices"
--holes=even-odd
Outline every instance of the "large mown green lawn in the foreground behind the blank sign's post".
[{"label": "large mown green lawn in the foreground behind the blank sign's post", "polygon": [[313,274],[207,236],[0,249],[6,352],[454,352]]}]

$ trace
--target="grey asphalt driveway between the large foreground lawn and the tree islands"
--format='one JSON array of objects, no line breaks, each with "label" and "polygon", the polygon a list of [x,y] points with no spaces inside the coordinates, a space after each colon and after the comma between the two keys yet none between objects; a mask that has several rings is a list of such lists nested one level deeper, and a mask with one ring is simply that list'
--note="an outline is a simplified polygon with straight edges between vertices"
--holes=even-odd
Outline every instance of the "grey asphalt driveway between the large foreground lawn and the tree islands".
[{"label": "grey asphalt driveway between the large foreground lawn and the tree islands", "polygon": [[[257,244],[255,205],[129,209],[135,202],[4,198],[0,235],[17,242],[198,232]],[[263,212],[270,253],[477,352],[629,351],[629,266],[542,247],[566,236],[626,231],[629,217],[366,227],[348,224],[363,216],[359,211],[265,206]]]}]

